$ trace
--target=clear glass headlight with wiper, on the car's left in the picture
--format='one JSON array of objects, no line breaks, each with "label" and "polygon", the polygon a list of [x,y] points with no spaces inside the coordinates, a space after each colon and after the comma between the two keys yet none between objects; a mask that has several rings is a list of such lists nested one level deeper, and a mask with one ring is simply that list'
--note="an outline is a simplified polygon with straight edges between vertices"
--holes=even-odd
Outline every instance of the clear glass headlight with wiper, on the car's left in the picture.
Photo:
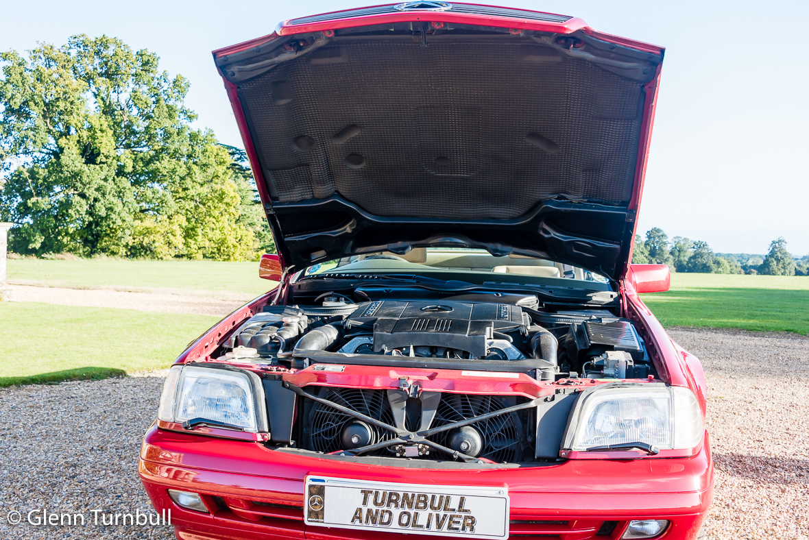
[{"label": "clear glass headlight with wiper, on the car's left in the picture", "polygon": [[175,365],[163,386],[159,420],[182,423],[210,421],[210,427],[267,431],[267,413],[260,378],[240,369]]}]

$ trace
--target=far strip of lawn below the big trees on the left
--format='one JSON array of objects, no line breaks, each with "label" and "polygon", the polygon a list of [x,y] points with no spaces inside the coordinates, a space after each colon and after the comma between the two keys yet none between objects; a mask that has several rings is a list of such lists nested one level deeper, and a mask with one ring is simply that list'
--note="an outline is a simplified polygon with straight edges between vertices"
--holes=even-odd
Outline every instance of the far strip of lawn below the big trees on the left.
[{"label": "far strip of lawn below the big trees on the left", "polygon": [[187,289],[256,297],[275,286],[259,278],[257,262],[11,259],[7,263],[9,281],[53,287]]}]

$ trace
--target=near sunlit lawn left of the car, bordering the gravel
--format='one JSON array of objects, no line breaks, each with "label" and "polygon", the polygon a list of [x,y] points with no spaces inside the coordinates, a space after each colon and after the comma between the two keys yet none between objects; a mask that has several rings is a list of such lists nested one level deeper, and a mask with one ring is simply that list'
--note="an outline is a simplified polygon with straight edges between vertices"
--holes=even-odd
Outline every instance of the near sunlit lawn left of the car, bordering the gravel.
[{"label": "near sunlit lawn left of the car, bordering the gravel", "polygon": [[103,378],[172,365],[218,317],[0,303],[0,386]]}]

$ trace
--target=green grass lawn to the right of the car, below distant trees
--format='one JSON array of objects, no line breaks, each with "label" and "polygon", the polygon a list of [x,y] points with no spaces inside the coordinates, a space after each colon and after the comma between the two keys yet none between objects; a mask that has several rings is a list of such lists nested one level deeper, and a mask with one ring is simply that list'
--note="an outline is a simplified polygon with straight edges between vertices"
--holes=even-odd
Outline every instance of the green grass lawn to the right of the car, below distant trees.
[{"label": "green grass lawn to the right of the car, below distant trees", "polygon": [[676,273],[670,291],[642,299],[665,327],[809,334],[809,276]]}]

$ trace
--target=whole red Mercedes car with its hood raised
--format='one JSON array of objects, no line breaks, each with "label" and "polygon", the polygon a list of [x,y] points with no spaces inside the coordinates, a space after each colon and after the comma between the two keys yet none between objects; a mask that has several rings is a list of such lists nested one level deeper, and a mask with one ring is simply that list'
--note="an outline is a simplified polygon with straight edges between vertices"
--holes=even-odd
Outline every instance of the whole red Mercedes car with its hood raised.
[{"label": "whole red Mercedes car with its hood raised", "polygon": [[630,265],[663,49],[404,2],[214,53],[280,281],[177,360],[177,538],[701,538],[705,377]]}]

